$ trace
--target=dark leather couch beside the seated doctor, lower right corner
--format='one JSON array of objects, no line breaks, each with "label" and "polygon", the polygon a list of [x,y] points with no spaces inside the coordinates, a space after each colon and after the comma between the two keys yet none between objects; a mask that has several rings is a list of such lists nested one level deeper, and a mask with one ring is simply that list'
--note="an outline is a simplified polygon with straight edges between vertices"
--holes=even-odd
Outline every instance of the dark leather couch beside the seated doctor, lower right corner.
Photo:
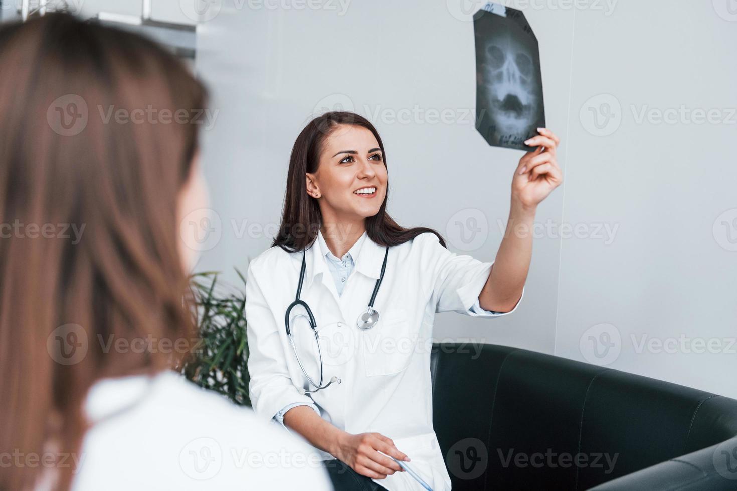
[{"label": "dark leather couch beside the seated doctor, lower right corner", "polygon": [[430,370],[454,491],[737,490],[737,400],[498,345]]}]

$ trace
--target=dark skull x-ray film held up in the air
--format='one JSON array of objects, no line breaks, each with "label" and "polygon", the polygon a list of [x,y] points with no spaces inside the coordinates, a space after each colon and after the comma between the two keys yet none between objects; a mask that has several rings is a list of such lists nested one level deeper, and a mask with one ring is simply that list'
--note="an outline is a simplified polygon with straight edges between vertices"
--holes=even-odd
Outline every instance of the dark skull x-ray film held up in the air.
[{"label": "dark skull x-ray film held up in the air", "polygon": [[545,127],[537,38],[522,11],[488,3],[474,15],[476,129],[489,145],[530,151]]}]

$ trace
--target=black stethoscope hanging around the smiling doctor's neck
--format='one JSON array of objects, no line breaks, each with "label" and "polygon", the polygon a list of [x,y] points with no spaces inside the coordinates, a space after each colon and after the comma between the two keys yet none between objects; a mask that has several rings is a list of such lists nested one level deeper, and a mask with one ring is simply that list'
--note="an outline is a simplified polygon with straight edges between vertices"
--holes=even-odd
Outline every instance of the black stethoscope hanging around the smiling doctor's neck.
[{"label": "black stethoscope hanging around the smiling doctor's neck", "polygon": [[[371,329],[376,325],[376,323],[379,321],[379,312],[374,309],[374,300],[376,300],[376,294],[379,292],[379,286],[381,285],[381,280],[384,279],[384,270],[386,269],[386,258],[389,254],[389,247],[386,246],[386,250],[384,252],[384,262],[381,264],[381,274],[379,275],[379,279],[376,280],[376,284],[374,284],[374,292],[371,293],[371,299],[368,300],[368,308],[366,308],[366,311],[363,312],[363,314],[360,314],[358,316],[358,319],[356,319],[356,325],[358,328],[363,329],[364,331],[366,329]],[[317,387],[314,390],[309,389],[302,389],[299,388],[299,392],[304,394],[305,392],[318,392],[319,389],[325,389],[327,386],[332,384],[333,382],[338,382],[340,384],[340,378],[333,376],[330,378],[330,381],[323,385],[323,362],[322,362],[322,350],[320,349],[320,336],[318,334],[318,328],[317,328],[317,322],[315,322],[315,316],[312,315],[312,309],[310,308],[310,305],[307,305],[307,302],[304,300],[299,300],[299,294],[302,292],[302,282],[304,281],[304,271],[307,269],[307,249],[304,250],[304,253],[302,255],[302,269],[299,272],[299,284],[297,285],[297,295],[294,299],[294,302],[290,303],[287,307],[287,312],[284,314],[284,325],[287,327],[287,337],[289,338],[289,342],[292,345],[292,350],[294,350],[294,356],[297,358],[297,363],[299,364],[299,367],[302,369],[302,373],[304,373],[304,376],[307,377],[307,380],[310,381],[310,384]],[[304,307],[304,310],[307,311],[307,316],[304,316],[304,314],[298,314],[298,316],[302,317],[308,317],[310,319],[310,327],[312,328],[312,332],[315,333],[315,342],[317,342],[318,345],[318,356],[320,358],[320,383],[315,384],[315,381],[312,381],[312,378],[309,374],[307,374],[307,370],[304,370],[304,366],[302,365],[301,360],[299,359],[299,355],[297,353],[297,347],[294,345],[294,339],[292,337],[292,331],[290,331],[289,328],[289,314],[292,311],[292,308],[296,307],[296,305],[301,305]]]}]

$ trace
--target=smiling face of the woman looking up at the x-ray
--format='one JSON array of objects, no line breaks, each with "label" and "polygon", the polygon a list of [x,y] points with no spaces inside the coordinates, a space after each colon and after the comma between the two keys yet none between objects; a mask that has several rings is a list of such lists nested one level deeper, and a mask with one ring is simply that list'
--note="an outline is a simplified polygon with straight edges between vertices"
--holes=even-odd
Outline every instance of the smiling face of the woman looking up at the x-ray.
[{"label": "smiling face of the woman looking up at the x-ray", "polygon": [[307,193],[318,199],[323,224],[363,229],[366,218],[379,212],[388,179],[374,134],[338,124],[318,149],[318,162],[317,171],[307,173]]}]

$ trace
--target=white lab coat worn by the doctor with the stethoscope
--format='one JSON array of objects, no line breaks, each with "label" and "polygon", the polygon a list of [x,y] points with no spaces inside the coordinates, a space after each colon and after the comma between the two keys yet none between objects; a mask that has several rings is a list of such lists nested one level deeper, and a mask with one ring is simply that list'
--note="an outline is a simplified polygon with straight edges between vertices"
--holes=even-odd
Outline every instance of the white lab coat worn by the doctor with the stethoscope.
[{"label": "white lab coat worn by the doctor with the stethoscope", "polygon": [[[519,301],[506,313],[480,310],[477,314],[472,305],[489,278],[492,263],[450,252],[435,234],[422,233],[389,248],[374,302],[379,321],[362,331],[356,320],[366,311],[385,248],[366,236],[339,296],[320,244],[315,240],[307,249],[300,298],[310,305],[318,325],[323,383],[336,375],[340,384],[306,395],[296,389],[313,388],[297,363],[284,327],[284,313],[295,299],[303,252],[271,247],[251,261],[246,278],[248,389],[256,414],[269,420],[287,404],[308,403],[325,420],[351,434],[377,432],[391,438],[410,457],[408,465],[434,491],[450,490],[450,476],[433,431],[430,347],[435,314],[455,311],[499,317],[511,314]],[[315,336],[299,312],[304,311],[293,309],[290,328],[302,364],[319,381]],[[335,458],[318,452],[323,459]],[[422,490],[406,472],[374,481],[389,491]]]}]

